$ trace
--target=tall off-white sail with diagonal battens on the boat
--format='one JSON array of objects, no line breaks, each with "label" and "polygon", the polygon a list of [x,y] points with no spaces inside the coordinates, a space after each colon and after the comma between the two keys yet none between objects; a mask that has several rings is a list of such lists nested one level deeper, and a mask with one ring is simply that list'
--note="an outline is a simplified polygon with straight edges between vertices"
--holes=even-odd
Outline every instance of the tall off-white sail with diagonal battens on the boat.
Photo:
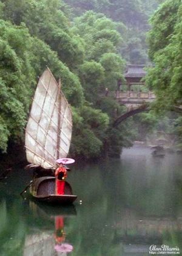
[{"label": "tall off-white sail with diagonal battens on the boat", "polygon": [[42,168],[66,157],[72,137],[72,111],[55,77],[47,68],[39,79],[25,130],[27,161]]}]

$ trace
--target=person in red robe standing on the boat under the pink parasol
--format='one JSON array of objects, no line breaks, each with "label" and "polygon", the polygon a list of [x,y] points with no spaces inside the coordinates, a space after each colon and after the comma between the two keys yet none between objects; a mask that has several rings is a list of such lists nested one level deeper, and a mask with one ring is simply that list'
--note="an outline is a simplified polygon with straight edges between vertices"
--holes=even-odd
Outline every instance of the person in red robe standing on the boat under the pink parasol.
[{"label": "person in red robe standing on the boat under the pink parasol", "polygon": [[62,163],[55,171],[56,177],[56,194],[64,194],[65,179],[67,177],[67,170]]}]

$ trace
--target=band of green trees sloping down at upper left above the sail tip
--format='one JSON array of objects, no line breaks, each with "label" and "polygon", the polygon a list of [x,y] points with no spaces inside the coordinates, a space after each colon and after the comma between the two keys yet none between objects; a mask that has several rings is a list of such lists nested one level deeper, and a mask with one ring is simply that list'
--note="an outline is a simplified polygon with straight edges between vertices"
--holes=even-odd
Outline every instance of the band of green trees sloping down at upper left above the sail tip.
[{"label": "band of green trees sloping down at upper left above the sail tip", "polygon": [[69,20],[61,11],[62,1],[7,0],[4,4],[5,19],[17,25],[25,23],[30,34],[49,44],[69,68],[83,62],[83,45],[80,38],[69,31]]}]

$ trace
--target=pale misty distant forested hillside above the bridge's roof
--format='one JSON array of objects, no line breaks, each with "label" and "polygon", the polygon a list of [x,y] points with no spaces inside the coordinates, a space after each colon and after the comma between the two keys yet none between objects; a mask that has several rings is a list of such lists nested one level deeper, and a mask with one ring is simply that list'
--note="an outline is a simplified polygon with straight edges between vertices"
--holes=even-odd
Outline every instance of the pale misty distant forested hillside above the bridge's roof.
[{"label": "pale misty distant forested hillside above the bridge's roof", "polygon": [[[107,17],[116,21],[118,23],[117,30],[122,34],[125,42],[121,45],[120,52],[127,62],[134,64],[149,62],[145,42],[146,31],[149,29],[148,19],[157,9],[158,1],[94,0],[87,2],[85,0],[67,0],[66,3],[73,7],[73,13],[76,16],[93,10],[104,13]],[[108,27],[110,29],[110,26]]]}]

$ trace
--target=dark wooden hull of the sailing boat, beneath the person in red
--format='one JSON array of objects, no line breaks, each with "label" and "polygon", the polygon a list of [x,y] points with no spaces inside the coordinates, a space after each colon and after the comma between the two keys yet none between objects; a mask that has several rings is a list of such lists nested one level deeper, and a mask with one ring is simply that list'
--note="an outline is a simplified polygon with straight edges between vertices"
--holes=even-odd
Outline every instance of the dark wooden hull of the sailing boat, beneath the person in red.
[{"label": "dark wooden hull of the sailing boat, beneath the person in red", "polygon": [[65,182],[64,194],[55,194],[55,177],[45,176],[33,180],[30,194],[38,201],[51,204],[72,204],[77,196],[72,193],[72,187]]}]

